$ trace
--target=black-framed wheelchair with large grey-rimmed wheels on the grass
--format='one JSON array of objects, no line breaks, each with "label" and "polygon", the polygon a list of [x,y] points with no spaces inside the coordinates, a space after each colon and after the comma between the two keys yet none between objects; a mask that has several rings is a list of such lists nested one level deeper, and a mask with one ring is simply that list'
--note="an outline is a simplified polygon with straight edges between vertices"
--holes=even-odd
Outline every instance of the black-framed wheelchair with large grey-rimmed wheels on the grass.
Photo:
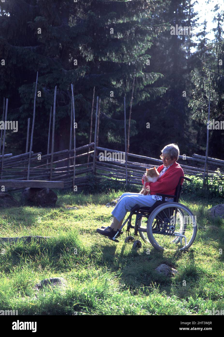
[{"label": "black-framed wheelchair with large grey-rimmed wheels on the grass", "polygon": [[[179,203],[182,179],[183,181],[184,179],[191,181],[189,178],[180,177],[175,195],[156,193],[156,195],[162,196],[162,200],[156,200],[151,207],[140,207],[136,204],[111,240],[119,242],[117,238],[123,233],[122,228],[127,223],[125,243],[133,242],[135,249],[142,246],[139,236],[144,242],[150,243],[159,251],[188,249],[195,240],[197,224],[196,216],[188,207]],[[174,201],[167,202],[165,197],[172,197]],[[134,226],[131,224],[133,215],[136,215]],[[144,221],[145,219],[146,221]],[[131,228],[134,229],[133,236]]]}]

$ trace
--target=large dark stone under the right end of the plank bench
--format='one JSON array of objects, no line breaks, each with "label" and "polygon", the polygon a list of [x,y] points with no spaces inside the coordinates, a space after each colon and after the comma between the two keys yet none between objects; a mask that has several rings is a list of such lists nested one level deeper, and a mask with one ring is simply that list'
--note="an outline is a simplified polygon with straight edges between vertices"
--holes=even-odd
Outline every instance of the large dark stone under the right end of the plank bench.
[{"label": "large dark stone under the right end of the plank bench", "polygon": [[27,187],[21,195],[21,202],[28,206],[55,207],[57,195],[47,188]]}]

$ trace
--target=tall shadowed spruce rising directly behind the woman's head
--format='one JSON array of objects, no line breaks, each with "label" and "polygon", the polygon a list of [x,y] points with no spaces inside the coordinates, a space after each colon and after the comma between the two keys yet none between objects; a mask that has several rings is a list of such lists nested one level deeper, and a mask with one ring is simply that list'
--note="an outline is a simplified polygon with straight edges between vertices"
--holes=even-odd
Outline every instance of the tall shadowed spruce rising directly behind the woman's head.
[{"label": "tall shadowed spruce rising directly behind the woman's head", "polygon": [[[168,90],[155,101],[138,107],[134,118],[137,119],[141,112],[142,119],[150,122],[148,130],[142,119],[139,119],[137,127],[146,139],[150,139],[150,154],[156,157],[163,146],[169,143],[178,143],[181,152],[188,155],[191,155],[194,145],[188,103],[192,94],[190,71],[195,63],[190,49],[195,42],[191,35],[171,35],[170,28],[176,25],[193,28],[196,16],[192,1],[181,0],[163,1],[163,5],[156,8],[153,16],[154,24],[164,23],[167,29],[153,40],[150,49],[151,69],[164,75],[156,83]],[[143,144],[142,154],[145,151],[149,151],[147,142]]]}]

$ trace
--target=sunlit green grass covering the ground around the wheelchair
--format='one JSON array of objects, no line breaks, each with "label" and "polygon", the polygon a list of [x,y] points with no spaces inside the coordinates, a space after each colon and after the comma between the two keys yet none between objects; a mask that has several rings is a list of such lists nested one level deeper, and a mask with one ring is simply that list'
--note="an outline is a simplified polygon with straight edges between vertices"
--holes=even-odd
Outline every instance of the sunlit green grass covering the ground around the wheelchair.
[{"label": "sunlit green grass covering the ground around the wheelchair", "polygon": [[[224,249],[224,220],[206,214],[220,199],[192,200],[184,195],[180,202],[197,215],[198,232],[189,251],[174,255],[147,243],[133,251],[132,243],[124,244],[125,233],[119,243],[96,233],[96,228],[110,224],[113,208],[103,204],[122,192],[58,194],[54,209],[1,210],[1,237],[52,238],[2,246],[0,310],[24,315],[206,315],[206,310],[223,310],[224,258],[219,249]],[[172,278],[158,274],[155,268],[161,263],[176,268],[178,274]],[[54,276],[64,277],[68,286],[34,288]]]}]

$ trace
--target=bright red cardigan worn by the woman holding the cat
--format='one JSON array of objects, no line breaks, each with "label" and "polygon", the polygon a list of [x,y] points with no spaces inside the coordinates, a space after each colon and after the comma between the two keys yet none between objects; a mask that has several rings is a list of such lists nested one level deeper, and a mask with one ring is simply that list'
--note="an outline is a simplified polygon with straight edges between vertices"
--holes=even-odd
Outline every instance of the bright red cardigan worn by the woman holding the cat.
[{"label": "bright red cardigan worn by the woman holding the cat", "polygon": [[[163,168],[164,165],[159,166],[157,168],[158,172],[160,173]],[[184,177],[184,172],[182,167],[175,161],[173,165],[170,166],[162,175],[162,177],[160,177],[155,183],[146,182],[145,187],[149,186],[150,194],[162,193],[174,195],[180,177]],[[143,179],[142,184],[144,185]],[[181,185],[182,184],[183,179],[181,179]]]}]

